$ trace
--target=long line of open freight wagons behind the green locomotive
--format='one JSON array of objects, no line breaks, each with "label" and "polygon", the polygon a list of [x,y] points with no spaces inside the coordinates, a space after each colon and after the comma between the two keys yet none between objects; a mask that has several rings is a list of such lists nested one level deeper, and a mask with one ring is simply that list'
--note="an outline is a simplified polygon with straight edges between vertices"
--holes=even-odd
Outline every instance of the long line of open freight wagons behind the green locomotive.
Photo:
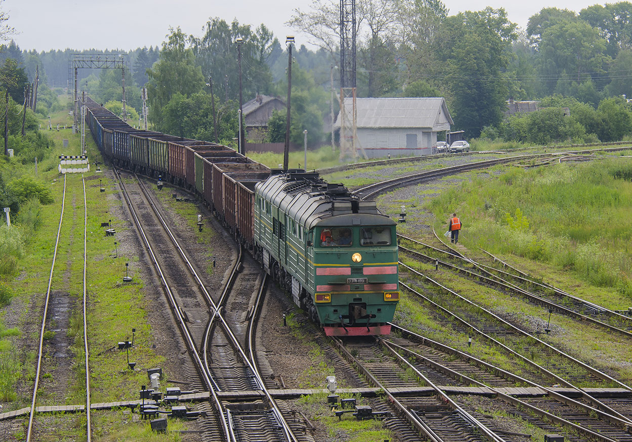
[{"label": "long line of open freight wagons behind the green locomotive", "polygon": [[92,99],[84,104],[90,111],[88,127],[106,160],[202,196],[252,248],[255,184],[274,170],[224,145],[134,129]]}]

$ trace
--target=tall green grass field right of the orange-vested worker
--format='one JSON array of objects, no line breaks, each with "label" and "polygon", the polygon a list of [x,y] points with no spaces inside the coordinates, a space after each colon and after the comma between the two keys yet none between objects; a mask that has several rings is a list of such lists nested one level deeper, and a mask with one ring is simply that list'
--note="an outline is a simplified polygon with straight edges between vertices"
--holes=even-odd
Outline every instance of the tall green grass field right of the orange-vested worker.
[{"label": "tall green grass field right of the orange-vested worker", "polygon": [[467,246],[546,261],[632,297],[631,177],[626,158],[516,168],[463,182],[427,208],[441,221],[456,210]]}]

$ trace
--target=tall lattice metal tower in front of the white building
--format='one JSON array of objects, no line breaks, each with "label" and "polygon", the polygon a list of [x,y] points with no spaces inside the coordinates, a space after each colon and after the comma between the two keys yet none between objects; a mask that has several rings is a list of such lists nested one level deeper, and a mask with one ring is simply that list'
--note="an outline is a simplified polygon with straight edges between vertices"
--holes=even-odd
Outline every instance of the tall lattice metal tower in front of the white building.
[{"label": "tall lattice metal tower in front of the white building", "polygon": [[[349,100],[347,100],[349,99]],[[349,109],[349,106],[351,109]],[[358,148],[356,111],[355,0],[340,0],[340,157],[355,158]]]}]

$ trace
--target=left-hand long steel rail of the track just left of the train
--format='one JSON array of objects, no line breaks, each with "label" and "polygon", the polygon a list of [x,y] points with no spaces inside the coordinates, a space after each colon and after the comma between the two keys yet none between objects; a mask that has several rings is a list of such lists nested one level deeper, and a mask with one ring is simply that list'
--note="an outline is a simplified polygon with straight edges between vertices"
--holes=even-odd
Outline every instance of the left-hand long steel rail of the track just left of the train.
[{"label": "left-hand long steel rail of the track just left of the train", "polygon": [[114,172],[116,173],[116,175],[119,178],[119,184],[121,185],[121,191],[123,192],[123,196],[125,197],[125,201],[128,204],[128,208],[130,209],[130,213],[132,215],[132,217],[134,218],[134,222],[138,227],[138,231],[143,239],[143,242],[145,242],[145,247],[147,248],[147,251],[149,252],[150,258],[152,260],[152,262],[154,263],[154,267],[156,269],[156,271],[158,272],[158,275],[161,279],[162,285],[164,287],[164,290],[166,292],[167,295],[167,299],[169,300],[169,304],[171,304],[171,310],[174,313],[174,316],[176,316],[176,321],[178,322],[179,327],[181,328],[181,331],[183,333],[183,337],[185,338],[185,342],[187,344],[187,346],[189,347],[189,352],[191,353],[191,355],[193,356],[193,359],[198,367],[198,371],[200,372],[200,376],[202,377],[202,380],[204,381],[204,383],[207,386],[207,390],[210,391],[210,395],[213,397],[213,402],[215,403],[215,406],[217,407],[217,414],[219,415],[219,419],[221,421],[221,425],[222,425],[222,430],[224,431],[224,436],[226,436],[226,440],[229,440],[229,431],[228,431],[228,424],[226,422],[226,416],[224,415],[223,412],[223,407],[221,404],[221,401],[219,400],[219,398],[217,398],[217,394],[216,391],[213,389],[213,383],[210,380],[210,377],[208,376],[208,373],[204,370],[204,364],[202,363],[202,359],[200,359],[200,355],[197,352],[197,348],[195,347],[195,342],[193,342],[193,337],[191,337],[191,333],[188,330],[188,327],[186,326],[186,321],[185,318],[183,317],[180,309],[178,308],[178,302],[176,302],[176,299],[173,295],[173,292],[171,292],[171,288],[169,287],[169,284],[167,282],[167,278],[165,277],[164,273],[162,272],[162,268],[158,263],[158,260],[154,254],[154,249],[152,248],[150,242],[149,242],[149,238],[147,238],[147,235],[145,235],[145,230],[142,227],[142,224],[140,223],[140,220],[138,219],[138,216],[136,214],[136,211],[134,210],[133,205],[131,204],[131,200],[130,197],[127,193],[126,187],[125,187],[125,183],[123,182],[123,180],[121,179],[121,176],[118,172],[118,170],[114,167],[113,168]]}]

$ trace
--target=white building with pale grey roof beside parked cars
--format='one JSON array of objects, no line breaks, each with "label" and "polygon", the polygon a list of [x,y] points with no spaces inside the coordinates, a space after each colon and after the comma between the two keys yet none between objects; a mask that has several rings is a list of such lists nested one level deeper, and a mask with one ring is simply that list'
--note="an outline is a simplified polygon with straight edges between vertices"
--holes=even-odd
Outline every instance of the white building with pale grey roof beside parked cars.
[{"label": "white building with pale grey roof beside parked cars", "polygon": [[[351,119],[352,99],[344,109]],[[428,155],[437,146],[437,133],[454,124],[446,100],[433,98],[356,99],[358,140],[370,158]],[[340,129],[340,116],[334,130]]]}]

